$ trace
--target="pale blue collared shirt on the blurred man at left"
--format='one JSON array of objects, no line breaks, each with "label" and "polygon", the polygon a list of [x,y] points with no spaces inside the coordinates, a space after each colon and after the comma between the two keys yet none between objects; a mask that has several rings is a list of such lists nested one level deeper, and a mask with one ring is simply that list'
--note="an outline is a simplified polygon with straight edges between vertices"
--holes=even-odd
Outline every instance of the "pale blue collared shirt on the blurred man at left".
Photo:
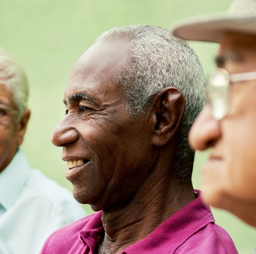
[{"label": "pale blue collared shirt on the blurred man at left", "polygon": [[1,254],[38,254],[52,232],[85,215],[72,194],[32,170],[20,150],[0,173]]}]

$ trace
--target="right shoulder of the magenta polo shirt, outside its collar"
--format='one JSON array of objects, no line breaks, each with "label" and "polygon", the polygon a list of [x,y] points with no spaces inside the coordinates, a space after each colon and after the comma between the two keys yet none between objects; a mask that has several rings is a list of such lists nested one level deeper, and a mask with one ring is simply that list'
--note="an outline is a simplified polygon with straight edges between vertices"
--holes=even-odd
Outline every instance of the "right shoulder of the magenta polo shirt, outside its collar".
[{"label": "right shoulder of the magenta polo shirt, outside its collar", "polygon": [[235,254],[238,253],[229,234],[215,223],[209,223],[180,245],[178,253]]}]

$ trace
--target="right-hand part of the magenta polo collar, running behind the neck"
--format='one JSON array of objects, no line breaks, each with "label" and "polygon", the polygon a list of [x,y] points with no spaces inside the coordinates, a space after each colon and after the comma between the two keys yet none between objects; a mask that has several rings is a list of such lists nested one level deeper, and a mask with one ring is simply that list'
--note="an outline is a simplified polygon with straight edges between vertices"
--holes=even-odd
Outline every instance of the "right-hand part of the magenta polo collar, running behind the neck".
[{"label": "right-hand part of the magenta polo collar, running behind the neck", "polygon": [[207,224],[214,223],[212,212],[203,203],[200,191],[194,191],[197,194],[196,199],[161,223],[149,236],[125,248],[122,253],[157,253],[162,249],[174,253],[191,235]]}]

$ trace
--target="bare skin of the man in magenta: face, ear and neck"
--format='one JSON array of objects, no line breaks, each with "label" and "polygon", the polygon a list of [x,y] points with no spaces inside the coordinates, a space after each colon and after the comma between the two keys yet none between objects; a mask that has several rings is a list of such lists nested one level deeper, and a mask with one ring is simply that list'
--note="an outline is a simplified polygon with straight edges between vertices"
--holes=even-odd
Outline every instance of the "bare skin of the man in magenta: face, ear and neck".
[{"label": "bare skin of the man in magenta: face, ear and neck", "polygon": [[84,160],[66,173],[74,197],[103,211],[105,235],[95,253],[120,253],[195,199],[191,182],[178,182],[173,168],[184,96],[167,87],[139,116],[126,112],[113,77],[127,64],[129,43],[97,42],[77,61],[64,96],[67,115],[52,136],[63,160]]}]

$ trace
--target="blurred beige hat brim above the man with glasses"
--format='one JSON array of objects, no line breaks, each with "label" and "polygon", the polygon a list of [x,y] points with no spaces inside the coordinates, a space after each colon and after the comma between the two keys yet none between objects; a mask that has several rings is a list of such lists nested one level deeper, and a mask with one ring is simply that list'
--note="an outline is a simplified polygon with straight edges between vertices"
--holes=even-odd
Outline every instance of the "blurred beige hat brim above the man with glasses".
[{"label": "blurred beige hat brim above the man with glasses", "polygon": [[201,16],[174,24],[172,34],[184,40],[220,42],[227,31],[256,34],[256,15]]}]

